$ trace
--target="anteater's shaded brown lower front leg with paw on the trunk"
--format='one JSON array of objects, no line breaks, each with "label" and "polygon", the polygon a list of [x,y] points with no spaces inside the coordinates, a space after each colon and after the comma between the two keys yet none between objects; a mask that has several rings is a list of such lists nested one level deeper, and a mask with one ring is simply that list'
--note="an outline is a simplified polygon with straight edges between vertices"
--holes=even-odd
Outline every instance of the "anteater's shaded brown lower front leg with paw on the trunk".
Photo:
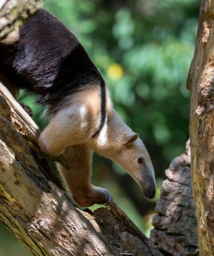
[{"label": "anteater's shaded brown lower front leg with paw on the trunk", "polygon": [[68,147],[63,156],[70,164],[70,170],[61,164],[57,164],[57,167],[77,204],[89,207],[93,204],[105,204],[112,200],[112,196],[106,189],[91,184],[92,151],[87,145]]}]

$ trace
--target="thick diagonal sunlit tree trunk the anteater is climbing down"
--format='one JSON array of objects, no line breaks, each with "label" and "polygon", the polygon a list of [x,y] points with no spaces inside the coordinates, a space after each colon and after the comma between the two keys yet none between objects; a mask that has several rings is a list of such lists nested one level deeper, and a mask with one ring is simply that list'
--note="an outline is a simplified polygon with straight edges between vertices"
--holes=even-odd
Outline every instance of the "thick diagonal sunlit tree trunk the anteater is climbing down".
[{"label": "thick diagonal sunlit tree trunk the anteater is climbing down", "polygon": [[[14,1],[3,2],[4,8]],[[113,202],[95,212],[80,211],[72,204],[47,161],[38,157],[38,127],[1,83],[0,131],[0,220],[29,252],[162,255]]]}]

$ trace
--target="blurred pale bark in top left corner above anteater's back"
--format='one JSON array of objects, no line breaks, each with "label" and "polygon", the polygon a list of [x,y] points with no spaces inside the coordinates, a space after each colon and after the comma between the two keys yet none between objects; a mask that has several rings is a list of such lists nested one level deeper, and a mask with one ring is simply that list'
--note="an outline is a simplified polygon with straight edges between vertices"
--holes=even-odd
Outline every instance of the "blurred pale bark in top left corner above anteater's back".
[{"label": "blurred pale bark in top left corner above anteater's back", "polygon": [[0,40],[10,31],[19,28],[44,0],[1,0],[0,1]]}]

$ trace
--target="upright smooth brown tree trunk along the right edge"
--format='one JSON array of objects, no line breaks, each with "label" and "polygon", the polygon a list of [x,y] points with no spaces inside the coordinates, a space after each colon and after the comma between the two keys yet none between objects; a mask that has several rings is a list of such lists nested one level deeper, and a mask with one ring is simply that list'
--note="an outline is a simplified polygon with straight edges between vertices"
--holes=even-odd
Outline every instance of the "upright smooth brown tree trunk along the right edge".
[{"label": "upright smooth brown tree trunk along the right edge", "polygon": [[202,0],[194,58],[187,79],[191,92],[191,172],[200,255],[214,255],[214,1]]}]

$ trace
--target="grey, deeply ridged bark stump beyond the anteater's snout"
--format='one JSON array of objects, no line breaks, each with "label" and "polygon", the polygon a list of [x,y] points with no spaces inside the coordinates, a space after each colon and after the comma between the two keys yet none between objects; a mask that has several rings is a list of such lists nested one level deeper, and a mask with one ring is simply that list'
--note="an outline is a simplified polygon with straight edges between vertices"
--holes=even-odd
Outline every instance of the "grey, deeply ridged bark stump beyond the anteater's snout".
[{"label": "grey, deeply ridged bark stump beyond the anteater's snout", "polygon": [[163,255],[198,255],[189,142],[186,154],[173,159],[165,175],[167,180],[162,184],[157,202],[151,240]]}]

